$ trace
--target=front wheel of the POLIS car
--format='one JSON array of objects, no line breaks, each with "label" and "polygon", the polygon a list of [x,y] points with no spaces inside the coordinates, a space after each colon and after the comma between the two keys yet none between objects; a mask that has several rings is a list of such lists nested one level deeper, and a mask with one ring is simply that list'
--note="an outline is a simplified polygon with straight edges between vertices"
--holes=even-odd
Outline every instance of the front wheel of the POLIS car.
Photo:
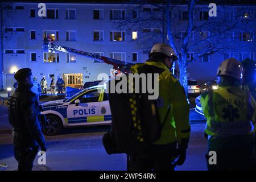
[{"label": "front wheel of the POLIS car", "polygon": [[55,115],[46,115],[46,125],[42,126],[43,134],[47,136],[57,135],[62,129],[60,119]]}]

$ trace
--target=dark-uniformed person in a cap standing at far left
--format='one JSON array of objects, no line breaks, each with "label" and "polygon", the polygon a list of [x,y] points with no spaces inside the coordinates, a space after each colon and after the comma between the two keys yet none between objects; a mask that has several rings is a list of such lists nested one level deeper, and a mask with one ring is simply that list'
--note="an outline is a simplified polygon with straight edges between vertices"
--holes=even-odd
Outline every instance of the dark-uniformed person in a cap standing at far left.
[{"label": "dark-uniformed person in a cap standing at far left", "polygon": [[46,140],[39,122],[40,106],[33,86],[30,68],[19,69],[14,78],[17,90],[8,100],[9,122],[13,126],[14,156],[19,171],[31,171],[39,146],[46,151]]}]

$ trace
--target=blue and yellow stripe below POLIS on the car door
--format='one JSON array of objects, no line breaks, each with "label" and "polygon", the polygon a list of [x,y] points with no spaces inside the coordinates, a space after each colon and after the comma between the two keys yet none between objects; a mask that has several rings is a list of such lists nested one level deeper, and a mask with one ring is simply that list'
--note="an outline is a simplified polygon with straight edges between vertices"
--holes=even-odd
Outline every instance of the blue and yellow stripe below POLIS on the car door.
[{"label": "blue and yellow stripe below POLIS on the car door", "polygon": [[90,123],[98,121],[110,121],[112,120],[112,115],[96,115],[88,117],[79,117],[79,118],[68,118],[68,123]]}]

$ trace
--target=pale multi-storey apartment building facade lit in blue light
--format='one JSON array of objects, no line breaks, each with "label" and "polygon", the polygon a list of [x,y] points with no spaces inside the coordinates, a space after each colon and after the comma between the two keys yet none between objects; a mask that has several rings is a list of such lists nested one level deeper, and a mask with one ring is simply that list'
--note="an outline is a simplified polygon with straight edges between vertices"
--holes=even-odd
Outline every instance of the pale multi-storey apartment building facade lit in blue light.
[{"label": "pale multi-storey apartment building facade lit in blue light", "polygon": [[[38,3],[20,2],[13,3],[10,7],[13,13],[3,27],[6,34],[10,34],[11,37],[3,44],[3,89],[13,87],[14,73],[20,68],[31,68],[38,81],[46,76],[48,86],[52,76],[63,77],[66,86],[79,87],[86,81],[97,80],[99,73],[110,75],[112,65],[64,52],[44,52],[42,42],[47,36],[51,36],[55,43],[61,46],[98,53],[130,63],[146,61],[148,52],[136,44],[137,36],[141,36],[146,30],[127,32],[114,26],[116,18],[129,14],[126,5],[46,3],[46,8],[46,17],[42,18],[38,16]],[[246,10],[246,6],[243,8]],[[255,6],[251,9],[251,14],[255,16]],[[195,14],[196,17],[197,15],[200,20],[200,13]],[[184,24],[185,22],[181,21],[177,26],[182,29]],[[241,33],[242,39],[247,36]],[[254,37],[255,32],[252,34]],[[202,83],[214,79],[218,65],[226,58],[255,59],[255,51],[246,51],[247,42],[241,40],[241,43],[245,45],[241,52],[227,52],[224,55],[216,53],[189,63],[188,77]],[[192,52],[188,57],[191,56]]]}]

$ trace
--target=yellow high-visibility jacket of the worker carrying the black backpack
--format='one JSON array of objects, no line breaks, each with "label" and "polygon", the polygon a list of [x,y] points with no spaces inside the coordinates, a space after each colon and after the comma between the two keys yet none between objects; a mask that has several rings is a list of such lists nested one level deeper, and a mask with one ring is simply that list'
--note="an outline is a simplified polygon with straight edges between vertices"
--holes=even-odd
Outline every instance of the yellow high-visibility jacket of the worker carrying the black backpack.
[{"label": "yellow high-visibility jacket of the worker carrying the black backpack", "polygon": [[[171,72],[160,61],[147,61],[146,65],[162,68],[164,71],[159,75],[159,97],[163,100],[162,107],[158,107],[160,122],[163,123],[166,117],[168,106],[171,106],[161,137],[154,144],[168,144],[181,139],[188,139],[190,136],[189,105],[185,96],[184,88],[180,82],[171,75]],[[133,73],[138,73],[138,68],[143,64],[135,64],[131,67]]]}]

